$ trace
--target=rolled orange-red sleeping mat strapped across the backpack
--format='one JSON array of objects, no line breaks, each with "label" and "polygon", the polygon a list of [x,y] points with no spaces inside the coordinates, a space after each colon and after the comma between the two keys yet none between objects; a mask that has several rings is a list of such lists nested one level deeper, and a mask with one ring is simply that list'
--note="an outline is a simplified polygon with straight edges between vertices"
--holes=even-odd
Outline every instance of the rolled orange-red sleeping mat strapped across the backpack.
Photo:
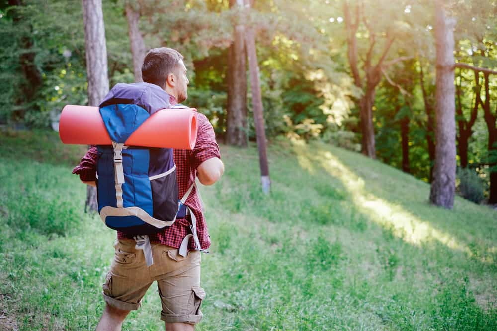
[{"label": "rolled orange-red sleeping mat strapped across the backpack", "polygon": [[[197,140],[196,109],[162,109],[151,115],[124,143],[127,146],[193,149]],[[98,107],[66,105],[59,120],[65,144],[112,145]]]}]

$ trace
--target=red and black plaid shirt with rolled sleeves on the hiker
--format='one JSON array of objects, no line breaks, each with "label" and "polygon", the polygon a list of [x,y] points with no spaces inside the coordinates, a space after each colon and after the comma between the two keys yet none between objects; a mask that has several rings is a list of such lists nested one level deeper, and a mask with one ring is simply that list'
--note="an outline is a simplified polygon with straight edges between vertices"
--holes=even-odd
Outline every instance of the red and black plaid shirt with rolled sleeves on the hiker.
[{"label": "red and black plaid shirt with rolled sleeves on the hiker", "polygon": [[[171,105],[176,104],[176,99],[170,97]],[[197,120],[197,142],[192,150],[174,149],[174,162],[176,163],[178,181],[178,199],[181,199],[188,188],[197,177],[197,167],[204,161],[217,157],[221,158],[219,146],[216,143],[214,129],[205,115],[196,113]],[[98,151],[95,146],[91,146],[86,155],[81,159],[78,166],[73,169],[73,174],[79,174],[82,181],[94,181],[96,179],[95,169]],[[192,190],[185,204],[195,214],[197,219],[197,236],[202,249],[207,249],[211,245],[207,225],[202,212],[202,203],[196,188]],[[179,248],[183,238],[190,233],[190,222],[185,218],[178,218],[170,227],[161,230],[155,235],[150,235],[150,241],[159,242],[163,245]],[[133,239],[133,236],[117,232],[118,239]],[[189,249],[194,249],[193,240],[190,240]]]}]

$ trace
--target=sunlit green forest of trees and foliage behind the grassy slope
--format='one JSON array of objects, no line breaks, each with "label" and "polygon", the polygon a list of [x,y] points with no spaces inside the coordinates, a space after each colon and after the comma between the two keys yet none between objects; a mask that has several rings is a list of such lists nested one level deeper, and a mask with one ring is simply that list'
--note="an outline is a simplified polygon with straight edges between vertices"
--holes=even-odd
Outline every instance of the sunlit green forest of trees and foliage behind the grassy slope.
[{"label": "sunlit green forest of trees and foliage behind the grassy slope", "polygon": [[[246,14],[234,0],[104,1],[109,83],[139,75],[133,43],[141,43],[142,52],[176,48],[190,74],[187,104],[208,116],[218,139],[245,146],[255,130],[248,75],[236,67],[237,27],[253,27],[269,140],[321,139],[429,182],[435,157],[433,2],[255,1]],[[449,1],[447,8],[457,20],[456,62],[496,68],[496,3]],[[82,16],[76,0],[1,2],[0,124],[49,127],[64,105],[87,104]],[[497,171],[497,79],[456,68],[454,83],[457,187],[480,203],[497,190],[490,180]],[[365,99],[371,100],[372,134],[364,133],[361,121]],[[497,203],[493,199],[488,202]]]}]

